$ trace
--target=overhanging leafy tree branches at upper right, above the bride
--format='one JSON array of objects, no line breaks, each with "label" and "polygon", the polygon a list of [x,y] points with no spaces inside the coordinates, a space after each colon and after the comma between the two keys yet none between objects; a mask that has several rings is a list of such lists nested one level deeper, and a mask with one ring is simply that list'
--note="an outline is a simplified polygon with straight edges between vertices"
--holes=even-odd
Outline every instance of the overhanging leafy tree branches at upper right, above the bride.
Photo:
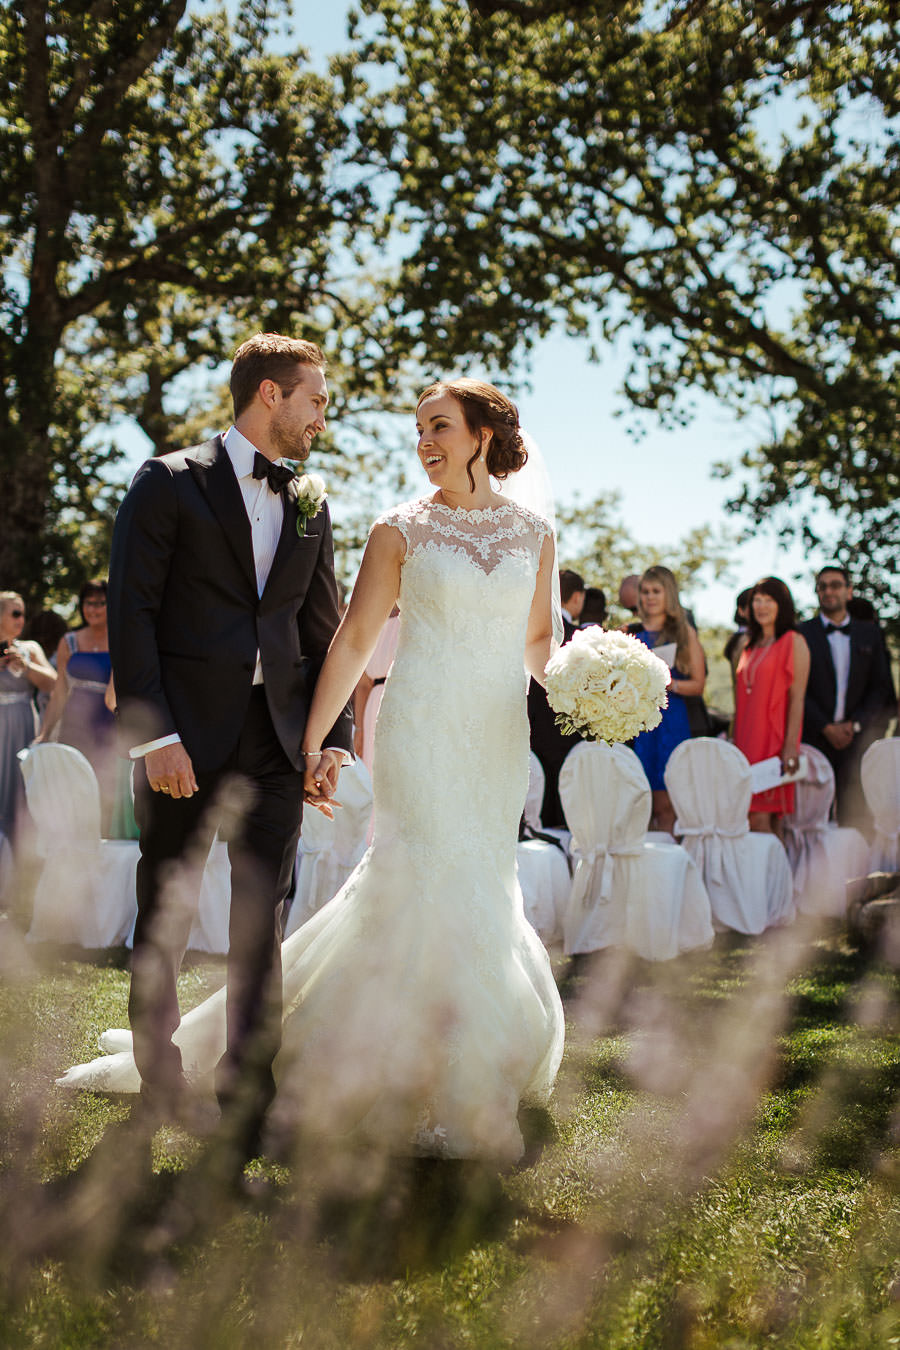
[{"label": "overhanging leafy tree branches at upper right, above the bride", "polygon": [[735,505],[762,520],[808,487],[858,563],[869,522],[900,548],[884,520],[900,489],[896,7],[363,9],[379,26],[366,55],[398,72],[364,131],[412,223],[398,288],[432,362],[509,369],[590,319],[631,343],[640,413],[685,420],[699,386],[776,428]]}]

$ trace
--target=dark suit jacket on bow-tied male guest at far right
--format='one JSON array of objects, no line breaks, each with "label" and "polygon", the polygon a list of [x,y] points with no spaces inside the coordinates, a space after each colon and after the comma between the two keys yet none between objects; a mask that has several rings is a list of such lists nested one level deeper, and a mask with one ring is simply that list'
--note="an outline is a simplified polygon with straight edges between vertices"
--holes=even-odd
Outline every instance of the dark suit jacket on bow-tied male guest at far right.
[{"label": "dark suit jacket on bow-tied male guest at far right", "polygon": [[[849,625],[850,672],[845,718],[860,722],[865,732],[880,734],[891,717],[893,682],[884,643],[874,624],[851,618]],[[824,624],[816,616],[800,624],[800,633],[810,648],[810,682],[803,709],[803,738],[826,753],[831,747],[822,734],[823,726],[834,721],[837,680],[834,662]]]}]

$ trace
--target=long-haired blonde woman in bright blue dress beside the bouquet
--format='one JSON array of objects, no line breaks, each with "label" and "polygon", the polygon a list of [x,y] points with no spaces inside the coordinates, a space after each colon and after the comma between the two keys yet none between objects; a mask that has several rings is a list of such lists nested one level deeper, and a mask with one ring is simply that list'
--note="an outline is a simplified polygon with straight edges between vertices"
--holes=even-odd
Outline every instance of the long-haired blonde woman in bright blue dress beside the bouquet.
[{"label": "long-haired blonde woman in bright blue dress beside the bouquet", "polygon": [[631,749],[641,760],[653,792],[650,826],[672,834],[675,810],[663,775],[675,747],[691,736],[684,699],[703,693],[706,659],[696,632],[684,616],[677,582],[668,567],[648,567],[641,576],[638,616],[641,626],[633,629],[634,637],[667,663],[672,683],[663,721],[652,732],[641,732]]}]

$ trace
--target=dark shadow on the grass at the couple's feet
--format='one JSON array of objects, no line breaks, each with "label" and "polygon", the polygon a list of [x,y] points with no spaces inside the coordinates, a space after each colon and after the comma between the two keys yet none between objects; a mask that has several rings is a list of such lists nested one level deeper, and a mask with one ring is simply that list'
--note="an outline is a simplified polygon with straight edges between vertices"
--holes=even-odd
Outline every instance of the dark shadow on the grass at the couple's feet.
[{"label": "dark shadow on the grass at the couple's feet", "polygon": [[[522,1108],[530,1168],[556,1137],[548,1111]],[[190,1264],[223,1231],[263,1220],[275,1243],[300,1233],[327,1251],[333,1274],[394,1280],[503,1241],[525,1211],[497,1166],[464,1160],[382,1160],[378,1181],[316,1187],[314,1160],[296,1173],[266,1160],[240,1179],[223,1170],[219,1141],[188,1137],[159,1165],[161,1143],[134,1112],[108,1126],[65,1176],[36,1187],[22,1256],[63,1262],[76,1282],[147,1288]],[[309,1184],[312,1181],[312,1184]],[[24,1234],[23,1234],[24,1237]],[[26,1251],[27,1249],[27,1251]]]}]

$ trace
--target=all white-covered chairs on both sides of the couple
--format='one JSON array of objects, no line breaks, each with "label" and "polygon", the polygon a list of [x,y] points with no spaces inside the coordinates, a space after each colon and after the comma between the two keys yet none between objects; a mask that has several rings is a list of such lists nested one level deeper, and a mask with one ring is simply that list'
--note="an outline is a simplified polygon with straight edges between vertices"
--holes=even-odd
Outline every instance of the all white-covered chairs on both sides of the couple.
[{"label": "all white-covered chairs on both sides of the couple", "polygon": [[[787,856],[773,836],[750,834],[750,770],[727,742],[690,740],[669,760],[667,788],[680,845],[648,833],[649,784],[634,753],[621,745],[582,742],[569,752],[560,798],[571,832],[542,832],[541,770],[533,759],[525,810],[532,837],[518,845],[533,926],[548,945],[563,941],[571,953],[625,945],[667,960],[708,944],[714,929],[760,933],[788,922],[795,907],[841,917],[849,878],[900,869],[900,740],[878,741],[864,757],[864,791],[876,822],[872,846],[828,821],[831,767],[811,747],[803,753],[810,772],[797,784],[787,822]],[[101,840],[93,770],[72,747],[47,744],[23,752],[22,772],[45,856],[30,938],[86,948],[128,942],[138,845]],[[333,821],[305,813],[287,933],[336,894],[366,849],[372,792],[360,760],[341,772],[340,799]],[[202,876],[192,949],[227,952],[228,909],[228,855],[217,840]]]}]

